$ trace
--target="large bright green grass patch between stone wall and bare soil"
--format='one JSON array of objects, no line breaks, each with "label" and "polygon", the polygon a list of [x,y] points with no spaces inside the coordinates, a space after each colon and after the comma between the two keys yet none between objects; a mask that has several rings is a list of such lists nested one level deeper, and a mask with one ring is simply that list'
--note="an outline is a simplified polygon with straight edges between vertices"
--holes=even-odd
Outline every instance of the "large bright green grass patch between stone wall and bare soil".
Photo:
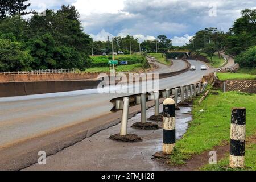
[{"label": "large bright green grass patch between stone wall and bare soil", "polygon": [[[199,155],[212,150],[230,140],[230,120],[232,107],[246,107],[246,136],[256,133],[256,95],[240,92],[221,93],[216,96],[209,94],[201,105],[199,98],[195,100],[192,115],[193,121],[181,140],[175,146],[175,152],[170,156],[170,163],[182,164],[192,155]],[[200,110],[204,110],[200,112]],[[253,160],[255,163],[255,159]]]}]

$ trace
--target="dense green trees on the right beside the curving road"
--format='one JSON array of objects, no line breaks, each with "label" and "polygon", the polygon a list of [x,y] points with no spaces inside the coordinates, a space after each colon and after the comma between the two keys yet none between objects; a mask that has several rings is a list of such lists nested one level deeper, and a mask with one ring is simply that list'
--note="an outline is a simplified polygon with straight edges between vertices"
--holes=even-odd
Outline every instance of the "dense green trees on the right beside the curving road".
[{"label": "dense green trees on the right beside the curving road", "polygon": [[230,53],[236,56],[236,62],[241,67],[256,67],[256,9],[245,9],[241,11],[238,18],[228,32],[217,28],[205,28],[195,34],[190,43],[181,47],[191,49],[196,54],[207,53],[209,57],[213,52]]}]

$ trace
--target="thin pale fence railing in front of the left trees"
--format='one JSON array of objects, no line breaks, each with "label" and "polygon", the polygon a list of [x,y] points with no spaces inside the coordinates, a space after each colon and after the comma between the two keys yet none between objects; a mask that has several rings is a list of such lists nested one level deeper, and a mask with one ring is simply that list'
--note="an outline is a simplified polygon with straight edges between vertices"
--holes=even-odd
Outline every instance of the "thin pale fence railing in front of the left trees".
[{"label": "thin pale fence railing in front of the left trees", "polygon": [[13,74],[31,74],[31,75],[44,75],[44,74],[63,74],[63,73],[79,73],[79,69],[40,69],[31,71],[18,71],[18,72],[1,72],[0,75],[13,75]]}]

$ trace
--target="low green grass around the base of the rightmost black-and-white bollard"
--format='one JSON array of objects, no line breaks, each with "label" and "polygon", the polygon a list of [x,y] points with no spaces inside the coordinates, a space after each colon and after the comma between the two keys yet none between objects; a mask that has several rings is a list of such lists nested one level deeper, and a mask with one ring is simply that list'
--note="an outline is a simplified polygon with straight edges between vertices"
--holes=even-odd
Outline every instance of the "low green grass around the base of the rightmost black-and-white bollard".
[{"label": "low green grass around the base of the rightmost black-and-white bollard", "polygon": [[234,171],[234,170],[246,170],[246,171],[256,171],[256,144],[249,144],[246,146],[245,150],[245,169],[232,169],[229,167],[229,156],[221,159],[217,165],[206,165],[201,168],[203,171]]}]

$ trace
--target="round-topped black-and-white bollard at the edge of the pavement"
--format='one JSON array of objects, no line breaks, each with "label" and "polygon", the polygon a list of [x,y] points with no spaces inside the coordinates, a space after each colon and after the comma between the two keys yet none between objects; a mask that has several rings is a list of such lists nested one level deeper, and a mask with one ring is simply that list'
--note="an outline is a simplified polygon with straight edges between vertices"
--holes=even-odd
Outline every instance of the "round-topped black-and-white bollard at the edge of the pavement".
[{"label": "round-topped black-and-white bollard at the edge of the pavement", "polygon": [[175,143],[175,101],[167,98],[163,102],[163,154],[172,154]]}]

